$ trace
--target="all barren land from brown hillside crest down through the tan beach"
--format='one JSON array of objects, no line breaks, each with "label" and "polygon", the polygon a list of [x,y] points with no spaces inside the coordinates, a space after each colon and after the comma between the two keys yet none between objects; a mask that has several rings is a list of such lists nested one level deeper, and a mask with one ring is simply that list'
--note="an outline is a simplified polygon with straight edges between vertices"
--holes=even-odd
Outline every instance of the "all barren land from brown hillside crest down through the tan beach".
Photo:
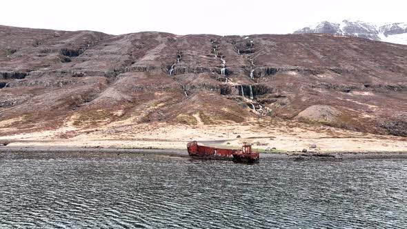
[{"label": "all barren land from brown hillside crest down through the tan beach", "polygon": [[0,63],[8,146],[407,151],[403,45],[0,26]]}]

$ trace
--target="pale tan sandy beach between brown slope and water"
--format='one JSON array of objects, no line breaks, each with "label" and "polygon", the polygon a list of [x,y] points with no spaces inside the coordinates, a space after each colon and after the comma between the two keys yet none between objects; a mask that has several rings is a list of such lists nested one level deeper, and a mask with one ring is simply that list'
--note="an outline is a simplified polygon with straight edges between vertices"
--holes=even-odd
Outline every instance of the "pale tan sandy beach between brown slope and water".
[{"label": "pale tan sandy beach between brown slope and water", "polygon": [[[1,130],[4,132],[6,129]],[[7,146],[1,146],[0,150],[103,150],[186,155],[186,143],[192,140],[226,148],[239,148],[244,143],[250,143],[256,150],[269,152],[262,155],[301,155],[303,149],[307,150],[308,155],[328,154],[335,157],[355,154],[363,157],[400,155],[407,152],[406,137],[370,135],[299,122],[275,122],[271,119],[221,125],[203,125],[198,122],[195,126],[158,122],[132,124],[125,120],[106,125],[99,123],[97,128],[77,128],[67,120],[57,130],[3,134],[0,143],[6,143]]]}]

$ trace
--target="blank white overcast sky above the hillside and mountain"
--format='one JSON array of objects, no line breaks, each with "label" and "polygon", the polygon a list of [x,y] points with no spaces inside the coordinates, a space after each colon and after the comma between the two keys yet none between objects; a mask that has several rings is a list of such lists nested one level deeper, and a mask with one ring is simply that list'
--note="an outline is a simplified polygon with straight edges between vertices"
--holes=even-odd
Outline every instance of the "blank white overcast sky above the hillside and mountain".
[{"label": "blank white overcast sky above the hillside and mountain", "polygon": [[407,0],[1,0],[0,24],[108,34],[285,34],[324,20],[406,22]]}]

